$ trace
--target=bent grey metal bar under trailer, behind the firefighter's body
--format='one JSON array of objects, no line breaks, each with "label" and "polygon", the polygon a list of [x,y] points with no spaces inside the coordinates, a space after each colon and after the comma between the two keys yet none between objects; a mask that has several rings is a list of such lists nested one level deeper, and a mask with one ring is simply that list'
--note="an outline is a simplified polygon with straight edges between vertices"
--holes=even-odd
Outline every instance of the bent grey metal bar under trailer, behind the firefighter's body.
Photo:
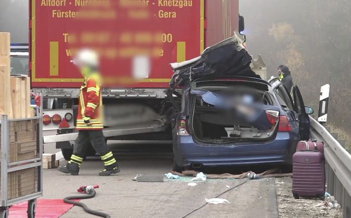
[{"label": "bent grey metal bar under trailer, behind the firefighter's body", "polygon": [[[160,132],[160,131],[164,131],[165,128],[166,128],[165,122],[153,121],[151,123],[145,123],[145,124],[134,124],[129,126],[104,128],[103,132],[104,132],[104,136],[108,138],[108,137],[122,136],[122,135]],[[78,132],[66,133],[61,135],[43,136],[43,143],[74,141],[77,138],[77,136],[78,136]]]}]

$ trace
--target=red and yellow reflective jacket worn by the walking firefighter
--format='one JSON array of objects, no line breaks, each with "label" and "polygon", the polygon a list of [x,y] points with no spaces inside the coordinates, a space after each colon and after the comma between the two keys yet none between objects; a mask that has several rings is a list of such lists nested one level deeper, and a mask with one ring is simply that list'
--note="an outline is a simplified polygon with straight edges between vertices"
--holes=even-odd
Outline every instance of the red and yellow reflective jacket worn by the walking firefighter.
[{"label": "red and yellow reflective jacket worn by the walking firefighter", "polygon": [[[104,128],[100,87],[101,80],[98,73],[91,73],[84,77],[84,82],[79,92],[77,130],[100,130]],[[84,117],[90,118],[91,126],[85,125]]]}]

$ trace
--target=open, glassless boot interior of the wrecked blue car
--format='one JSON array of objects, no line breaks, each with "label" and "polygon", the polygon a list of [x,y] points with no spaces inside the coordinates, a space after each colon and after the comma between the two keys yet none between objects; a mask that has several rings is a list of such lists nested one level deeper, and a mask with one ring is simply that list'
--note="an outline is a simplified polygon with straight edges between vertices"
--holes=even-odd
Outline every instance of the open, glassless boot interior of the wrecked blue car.
[{"label": "open, glassless boot interior of the wrecked blue car", "polygon": [[[241,87],[242,82],[240,83]],[[228,84],[197,84],[197,89],[201,91],[210,91],[211,93],[221,96],[222,93],[238,93],[238,96],[244,96],[242,93],[244,89],[239,91],[233,88],[233,83]],[[199,86],[200,85],[200,86]],[[255,101],[260,101],[262,105],[273,105],[274,98],[267,92],[266,84],[248,83],[246,85],[247,93],[252,96]],[[235,87],[235,86],[234,86]],[[228,92],[228,89],[232,89]],[[246,90],[246,89],[245,89]],[[245,92],[245,91],[244,91]],[[247,94],[246,93],[246,94]],[[237,141],[261,141],[268,140],[274,134],[277,124],[270,126],[269,129],[257,128],[252,123],[245,119],[240,119],[241,114],[236,114],[231,108],[222,108],[218,105],[213,105],[206,102],[202,97],[195,97],[192,95],[192,114],[191,114],[191,128],[193,129],[193,136],[199,141],[211,144],[223,144]],[[220,101],[217,101],[220,102]],[[266,113],[266,112],[264,112]],[[262,115],[266,119],[266,115]],[[277,122],[278,123],[278,122]]]}]

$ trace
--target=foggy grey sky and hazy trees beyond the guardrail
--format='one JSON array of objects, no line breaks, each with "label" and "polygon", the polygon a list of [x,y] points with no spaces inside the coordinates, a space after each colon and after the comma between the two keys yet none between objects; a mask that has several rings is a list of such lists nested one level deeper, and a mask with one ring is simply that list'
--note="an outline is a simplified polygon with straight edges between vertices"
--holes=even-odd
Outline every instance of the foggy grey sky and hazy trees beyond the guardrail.
[{"label": "foggy grey sky and hazy trees beyond the guardrail", "polygon": [[268,78],[289,67],[305,105],[318,117],[320,87],[330,84],[328,123],[351,149],[351,1],[240,0],[248,52],[262,55]]}]

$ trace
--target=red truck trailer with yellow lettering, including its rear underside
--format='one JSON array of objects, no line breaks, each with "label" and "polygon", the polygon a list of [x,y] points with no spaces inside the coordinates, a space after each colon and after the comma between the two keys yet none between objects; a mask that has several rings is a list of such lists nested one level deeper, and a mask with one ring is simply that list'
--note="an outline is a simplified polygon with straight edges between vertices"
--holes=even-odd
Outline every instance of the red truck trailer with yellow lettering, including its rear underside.
[{"label": "red truck trailer with yellow lettering, including its rear underside", "polygon": [[29,9],[31,87],[48,99],[44,130],[58,131],[45,142],[65,158],[83,81],[70,63],[77,49],[99,52],[107,138],[171,139],[169,63],[198,57],[239,29],[239,0],[31,0]]}]

